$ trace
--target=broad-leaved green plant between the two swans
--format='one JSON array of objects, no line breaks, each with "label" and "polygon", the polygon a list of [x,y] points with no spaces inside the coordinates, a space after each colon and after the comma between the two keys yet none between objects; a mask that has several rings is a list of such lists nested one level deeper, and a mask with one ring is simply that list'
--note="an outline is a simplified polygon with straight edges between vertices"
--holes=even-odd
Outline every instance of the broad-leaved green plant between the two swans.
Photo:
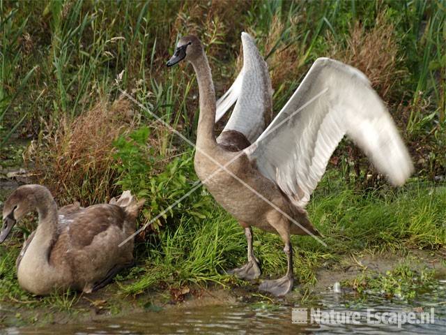
[{"label": "broad-leaved green plant between the two swans", "polygon": [[[192,152],[166,164],[163,157],[155,156],[156,150],[147,145],[149,135],[150,129],[142,126],[114,142],[116,170],[121,175],[116,184],[146,199],[142,211],[144,224],[151,222],[153,230],[159,230],[173,219],[179,222],[183,217],[206,218],[213,200],[197,187]],[[172,204],[176,205],[172,207]]]}]

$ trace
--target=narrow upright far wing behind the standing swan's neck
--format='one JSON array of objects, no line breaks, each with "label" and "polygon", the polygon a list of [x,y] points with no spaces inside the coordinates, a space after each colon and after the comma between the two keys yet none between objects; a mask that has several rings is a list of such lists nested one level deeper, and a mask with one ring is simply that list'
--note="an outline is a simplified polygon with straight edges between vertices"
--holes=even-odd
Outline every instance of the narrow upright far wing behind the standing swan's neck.
[{"label": "narrow upright far wing behind the standing swan's neck", "polygon": [[220,119],[236,102],[224,131],[243,133],[252,143],[271,117],[272,88],[268,66],[259,54],[254,39],[249,34],[242,33],[242,43],[243,69],[229,91],[217,101],[216,119]]}]

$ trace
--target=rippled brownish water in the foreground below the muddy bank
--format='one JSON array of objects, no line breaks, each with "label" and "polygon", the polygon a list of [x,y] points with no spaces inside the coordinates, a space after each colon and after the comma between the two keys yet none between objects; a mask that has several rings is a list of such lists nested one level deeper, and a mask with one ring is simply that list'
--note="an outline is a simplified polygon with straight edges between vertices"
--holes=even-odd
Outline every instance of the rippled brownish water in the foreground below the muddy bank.
[{"label": "rippled brownish water in the foreground below the muddy bank", "polygon": [[[190,309],[170,308],[160,312],[135,313],[123,318],[100,320],[82,325],[52,325],[35,328],[8,328],[6,334],[446,334],[446,290],[422,295],[408,305],[403,301],[371,298],[358,301],[352,294],[321,294],[311,304],[296,308],[321,308],[336,312],[361,313],[360,325],[296,325],[291,322],[290,304],[279,306],[235,304]],[[374,311],[430,311],[435,308],[433,324],[367,325],[367,308]]]}]

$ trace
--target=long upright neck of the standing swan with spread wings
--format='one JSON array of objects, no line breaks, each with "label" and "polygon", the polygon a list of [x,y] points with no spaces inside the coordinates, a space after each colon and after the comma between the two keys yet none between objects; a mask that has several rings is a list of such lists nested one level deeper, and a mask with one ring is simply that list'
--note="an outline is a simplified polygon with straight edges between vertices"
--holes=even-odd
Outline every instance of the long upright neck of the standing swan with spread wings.
[{"label": "long upright neck of the standing swan with spread wings", "polygon": [[215,124],[215,89],[210,73],[208,59],[204,51],[201,56],[192,62],[200,96],[200,114],[197,129],[197,147],[209,148],[216,145],[214,124]]}]

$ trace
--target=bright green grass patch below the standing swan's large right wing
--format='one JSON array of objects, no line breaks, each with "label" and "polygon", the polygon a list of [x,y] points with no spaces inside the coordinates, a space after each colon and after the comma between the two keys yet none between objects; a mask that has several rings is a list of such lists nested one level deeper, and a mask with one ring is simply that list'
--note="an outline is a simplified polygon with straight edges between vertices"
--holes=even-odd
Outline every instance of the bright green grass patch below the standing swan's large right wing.
[{"label": "bright green grass patch below the standing swan's large right wing", "polygon": [[446,245],[446,188],[413,183],[403,191],[383,187],[364,193],[330,179],[331,173],[316,189],[307,210],[327,236],[325,241],[334,243],[339,252],[410,247],[438,250]]}]

